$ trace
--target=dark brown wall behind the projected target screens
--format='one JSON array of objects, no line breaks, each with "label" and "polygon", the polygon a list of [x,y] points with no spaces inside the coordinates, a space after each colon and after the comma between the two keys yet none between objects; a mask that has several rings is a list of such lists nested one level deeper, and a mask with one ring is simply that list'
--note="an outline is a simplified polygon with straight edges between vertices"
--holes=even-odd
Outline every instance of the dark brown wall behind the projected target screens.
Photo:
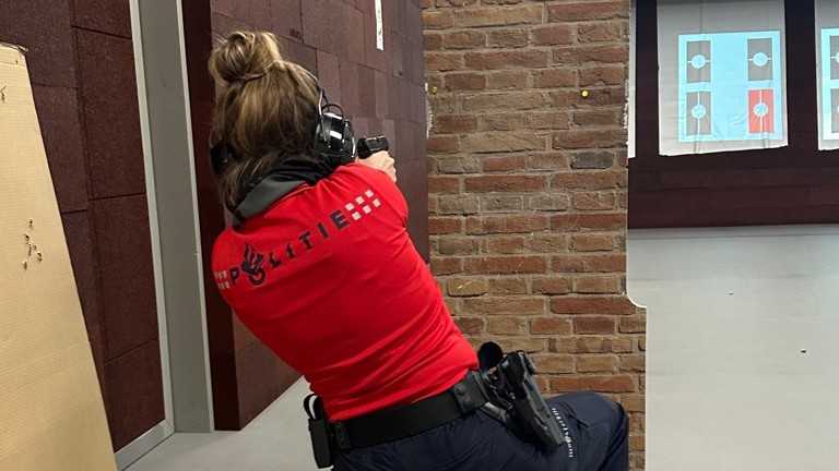
[{"label": "dark brown wall behind the projected target screens", "polygon": [[658,149],[655,2],[638,2],[630,228],[839,222],[839,152],[817,148],[814,3],[785,4],[790,145],[665,157]]}]

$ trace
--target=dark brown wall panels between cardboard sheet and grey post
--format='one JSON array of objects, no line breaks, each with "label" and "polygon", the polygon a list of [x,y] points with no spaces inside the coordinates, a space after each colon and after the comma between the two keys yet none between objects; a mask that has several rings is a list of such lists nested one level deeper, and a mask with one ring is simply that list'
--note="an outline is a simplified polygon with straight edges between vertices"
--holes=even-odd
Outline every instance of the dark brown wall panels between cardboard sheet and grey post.
[{"label": "dark brown wall panels between cardboard sheet and grey post", "polygon": [[[26,55],[115,449],[164,419],[128,0],[0,0]],[[115,196],[133,195],[131,198]],[[116,400],[111,398],[116,397]]]}]

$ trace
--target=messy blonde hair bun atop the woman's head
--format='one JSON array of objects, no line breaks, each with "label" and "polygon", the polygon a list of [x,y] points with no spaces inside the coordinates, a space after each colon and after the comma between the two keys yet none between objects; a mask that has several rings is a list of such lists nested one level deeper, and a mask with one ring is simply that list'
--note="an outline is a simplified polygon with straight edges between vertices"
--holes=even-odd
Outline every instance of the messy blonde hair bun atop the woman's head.
[{"label": "messy blonde hair bun atop the woman's head", "polygon": [[283,58],[271,33],[236,32],[210,55],[210,73],[227,83],[259,78]]}]

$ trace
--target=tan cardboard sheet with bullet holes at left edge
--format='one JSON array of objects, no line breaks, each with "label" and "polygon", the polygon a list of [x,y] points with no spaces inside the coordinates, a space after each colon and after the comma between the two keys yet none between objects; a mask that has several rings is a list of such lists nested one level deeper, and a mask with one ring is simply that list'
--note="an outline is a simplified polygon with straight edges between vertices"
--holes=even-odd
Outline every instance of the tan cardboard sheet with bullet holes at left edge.
[{"label": "tan cardboard sheet with bullet holes at left edge", "polygon": [[25,56],[0,44],[0,470],[115,469]]}]

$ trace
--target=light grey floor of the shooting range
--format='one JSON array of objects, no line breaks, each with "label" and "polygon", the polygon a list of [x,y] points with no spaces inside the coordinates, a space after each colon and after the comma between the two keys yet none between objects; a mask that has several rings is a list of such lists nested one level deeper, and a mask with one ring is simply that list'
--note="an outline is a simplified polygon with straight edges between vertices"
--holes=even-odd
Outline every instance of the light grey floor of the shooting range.
[{"label": "light grey floor of the shooting range", "polygon": [[[630,231],[628,257],[648,307],[648,471],[839,470],[839,226]],[[307,392],[128,469],[315,470]]]}]

